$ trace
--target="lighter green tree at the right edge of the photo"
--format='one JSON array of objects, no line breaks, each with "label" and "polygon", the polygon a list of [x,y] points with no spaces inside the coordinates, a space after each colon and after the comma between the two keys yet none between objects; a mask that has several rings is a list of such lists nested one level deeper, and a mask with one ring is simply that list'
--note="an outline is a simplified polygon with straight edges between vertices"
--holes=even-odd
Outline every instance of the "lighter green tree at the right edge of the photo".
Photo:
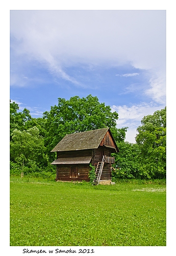
[{"label": "lighter green tree at the right edge of the photo", "polygon": [[142,165],[139,173],[148,178],[166,176],[166,107],[153,115],[145,116],[137,128]]}]

